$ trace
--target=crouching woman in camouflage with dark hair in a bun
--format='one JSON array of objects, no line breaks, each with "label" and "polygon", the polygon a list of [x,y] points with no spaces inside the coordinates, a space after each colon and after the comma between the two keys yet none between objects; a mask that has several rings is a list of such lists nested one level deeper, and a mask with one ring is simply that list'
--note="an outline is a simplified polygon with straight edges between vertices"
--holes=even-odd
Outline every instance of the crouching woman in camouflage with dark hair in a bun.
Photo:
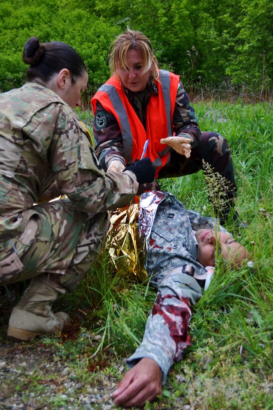
[{"label": "crouching woman in camouflage with dark hair in a bun", "polygon": [[100,252],[107,209],[128,203],[155,171],[148,158],[124,172],[101,168],[73,109],[88,74],[72,47],[31,37],[23,60],[28,82],[0,95],[0,285],[32,278],[7,332],[32,340],[63,328],[68,315],[54,314],[52,301]]}]

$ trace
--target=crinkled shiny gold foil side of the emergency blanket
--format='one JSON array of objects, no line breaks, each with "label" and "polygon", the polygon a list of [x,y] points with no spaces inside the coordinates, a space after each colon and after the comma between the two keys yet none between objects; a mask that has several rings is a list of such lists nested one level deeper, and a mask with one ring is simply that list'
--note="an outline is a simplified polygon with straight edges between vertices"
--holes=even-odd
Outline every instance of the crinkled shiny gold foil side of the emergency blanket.
[{"label": "crinkled shiny gold foil side of the emergency blanket", "polygon": [[132,203],[111,212],[111,227],[107,247],[117,271],[130,279],[145,280],[144,243],[141,244],[138,230],[139,205]]}]

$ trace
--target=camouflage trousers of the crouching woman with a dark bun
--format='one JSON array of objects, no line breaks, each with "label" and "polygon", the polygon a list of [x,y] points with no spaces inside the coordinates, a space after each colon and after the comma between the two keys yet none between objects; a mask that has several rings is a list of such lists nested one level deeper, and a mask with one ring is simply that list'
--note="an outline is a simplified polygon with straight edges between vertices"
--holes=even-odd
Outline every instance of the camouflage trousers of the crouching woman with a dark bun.
[{"label": "camouflage trousers of the crouching woman with a dark bun", "polygon": [[0,242],[0,285],[48,274],[75,288],[100,253],[110,224],[108,212],[89,216],[68,199],[33,206],[22,234]]}]

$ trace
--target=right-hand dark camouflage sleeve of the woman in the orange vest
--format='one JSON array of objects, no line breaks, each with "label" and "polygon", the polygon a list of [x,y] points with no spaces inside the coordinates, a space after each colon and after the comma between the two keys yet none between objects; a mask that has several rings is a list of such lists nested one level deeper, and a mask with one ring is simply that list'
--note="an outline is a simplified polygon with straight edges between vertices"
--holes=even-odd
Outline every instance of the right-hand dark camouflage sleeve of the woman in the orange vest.
[{"label": "right-hand dark camouflage sleeve of the woman in the orange vest", "polygon": [[190,98],[184,89],[182,82],[179,83],[173,114],[173,124],[175,135],[189,137],[192,141],[192,148],[198,145],[201,131],[197,123],[195,110],[190,104]]}]

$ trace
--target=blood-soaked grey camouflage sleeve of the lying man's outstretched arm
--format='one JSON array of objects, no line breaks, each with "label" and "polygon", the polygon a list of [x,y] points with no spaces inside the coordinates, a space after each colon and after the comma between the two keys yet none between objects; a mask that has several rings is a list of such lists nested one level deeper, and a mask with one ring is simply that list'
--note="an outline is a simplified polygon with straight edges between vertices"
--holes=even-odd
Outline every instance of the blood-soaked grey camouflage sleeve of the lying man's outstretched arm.
[{"label": "blood-soaked grey camouflage sleeve of the lying man's outstretched arm", "polygon": [[190,282],[194,302],[199,299],[201,288],[191,276],[180,273],[164,278],[148,317],[142,343],[127,360],[132,367],[143,357],[152,358],[162,370],[163,384],[173,362],[181,360],[183,351],[191,345],[188,331],[191,299],[185,297],[188,293],[186,282]]}]

